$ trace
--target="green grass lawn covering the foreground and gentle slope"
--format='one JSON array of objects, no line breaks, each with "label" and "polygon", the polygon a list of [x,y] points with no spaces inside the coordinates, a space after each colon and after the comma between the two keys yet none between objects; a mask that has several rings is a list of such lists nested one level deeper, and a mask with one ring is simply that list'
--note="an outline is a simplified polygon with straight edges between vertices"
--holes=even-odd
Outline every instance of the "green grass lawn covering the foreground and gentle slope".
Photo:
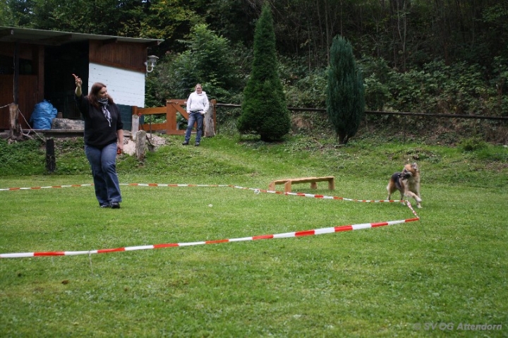
[{"label": "green grass lawn covering the foreground and gentle slope", "polygon": [[[508,337],[506,148],[463,152],[373,140],[336,147],[307,138],[267,145],[224,136],[196,148],[168,140],[143,163],[122,155],[121,183],[267,189],[274,179],[335,176],[335,191],[325,182],[315,191],[307,183],[293,188],[382,200],[389,175],[409,159],[422,171],[421,220],[298,238],[0,259],[1,337]],[[20,157],[8,150],[25,162],[1,162],[0,188],[92,183],[82,151],[60,149],[55,174],[44,174],[43,150]],[[121,190],[120,210],[99,208],[90,186],[0,191],[0,253],[238,239],[414,217],[399,203],[231,187]]]}]

